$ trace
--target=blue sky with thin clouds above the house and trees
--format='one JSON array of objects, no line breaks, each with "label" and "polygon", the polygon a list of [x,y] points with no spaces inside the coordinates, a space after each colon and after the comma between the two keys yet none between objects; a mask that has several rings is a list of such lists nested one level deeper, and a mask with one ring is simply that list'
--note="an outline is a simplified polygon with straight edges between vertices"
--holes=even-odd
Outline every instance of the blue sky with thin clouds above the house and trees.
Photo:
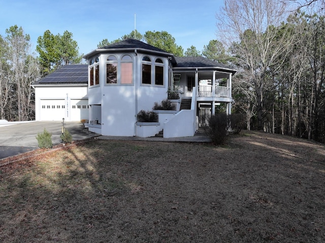
[{"label": "blue sky with thin clouds above the house and trees", "polygon": [[[216,13],[222,0],[0,0],[0,35],[17,25],[29,34],[31,49],[46,30],[73,34],[80,54],[103,40],[116,40],[136,29],[167,31],[184,51],[216,39]],[[36,51],[35,51],[36,52]]]}]

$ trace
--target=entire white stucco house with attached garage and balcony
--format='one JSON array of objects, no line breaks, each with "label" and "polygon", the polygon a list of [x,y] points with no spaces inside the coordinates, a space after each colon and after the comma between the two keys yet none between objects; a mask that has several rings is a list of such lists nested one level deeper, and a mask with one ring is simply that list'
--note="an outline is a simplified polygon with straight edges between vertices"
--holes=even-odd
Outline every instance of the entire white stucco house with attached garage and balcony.
[{"label": "entire white stucco house with attached garage and balcony", "polygon": [[[164,137],[181,137],[193,136],[200,114],[214,114],[217,103],[225,102],[231,114],[236,70],[224,64],[175,57],[135,39],[84,58],[88,65],[62,66],[34,85],[36,120],[87,119],[89,130],[102,135],[146,137],[163,130]],[[173,101],[182,105],[159,112],[157,123],[137,122],[139,111],[151,111],[154,102],[167,98],[169,88],[179,90],[180,99]],[[184,109],[186,101],[190,105]]]}]

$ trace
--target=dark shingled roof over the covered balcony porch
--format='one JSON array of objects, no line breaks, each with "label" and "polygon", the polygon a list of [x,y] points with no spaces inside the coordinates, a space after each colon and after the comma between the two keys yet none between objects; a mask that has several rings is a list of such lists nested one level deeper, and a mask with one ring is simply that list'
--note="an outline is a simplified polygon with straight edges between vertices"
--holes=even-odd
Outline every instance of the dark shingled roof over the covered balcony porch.
[{"label": "dark shingled roof over the covered balcony porch", "polygon": [[189,57],[175,57],[177,65],[173,66],[173,69],[195,69],[195,68],[214,68],[217,70],[224,70],[231,73],[236,73],[237,70],[224,65],[219,62],[212,61],[203,56],[189,56]]}]

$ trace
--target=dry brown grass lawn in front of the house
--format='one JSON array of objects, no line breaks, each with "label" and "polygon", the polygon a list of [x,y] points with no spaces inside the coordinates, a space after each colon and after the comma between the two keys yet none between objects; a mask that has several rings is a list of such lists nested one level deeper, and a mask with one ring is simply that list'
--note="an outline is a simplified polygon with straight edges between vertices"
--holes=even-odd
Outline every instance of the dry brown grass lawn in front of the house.
[{"label": "dry brown grass lawn in front of the house", "polygon": [[324,146],[93,140],[0,167],[1,242],[324,242]]}]

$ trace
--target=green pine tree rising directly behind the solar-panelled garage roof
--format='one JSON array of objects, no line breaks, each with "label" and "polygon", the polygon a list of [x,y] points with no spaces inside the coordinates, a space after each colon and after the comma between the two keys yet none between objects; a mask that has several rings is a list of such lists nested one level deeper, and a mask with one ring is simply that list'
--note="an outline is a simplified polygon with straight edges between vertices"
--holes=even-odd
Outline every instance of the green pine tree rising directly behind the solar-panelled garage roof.
[{"label": "green pine tree rising directly behind the solar-panelled garage roof", "polygon": [[54,36],[50,30],[46,30],[43,36],[38,38],[36,50],[40,54],[44,75],[61,65],[80,63],[82,55],[79,55],[78,44],[72,37],[72,33],[67,30],[62,36]]}]

